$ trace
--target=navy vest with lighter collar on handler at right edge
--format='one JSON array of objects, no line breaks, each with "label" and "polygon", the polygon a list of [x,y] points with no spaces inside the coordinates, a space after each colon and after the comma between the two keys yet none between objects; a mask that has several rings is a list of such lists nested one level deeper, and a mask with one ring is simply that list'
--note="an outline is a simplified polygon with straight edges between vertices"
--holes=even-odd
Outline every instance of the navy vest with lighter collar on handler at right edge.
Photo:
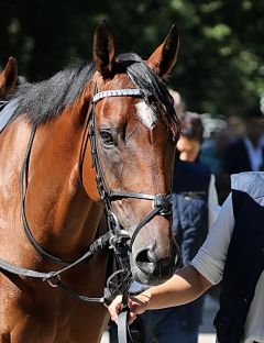
[{"label": "navy vest with lighter collar on handler at right edge", "polygon": [[215,327],[220,343],[240,343],[264,269],[264,173],[232,175],[234,228],[223,270]]}]

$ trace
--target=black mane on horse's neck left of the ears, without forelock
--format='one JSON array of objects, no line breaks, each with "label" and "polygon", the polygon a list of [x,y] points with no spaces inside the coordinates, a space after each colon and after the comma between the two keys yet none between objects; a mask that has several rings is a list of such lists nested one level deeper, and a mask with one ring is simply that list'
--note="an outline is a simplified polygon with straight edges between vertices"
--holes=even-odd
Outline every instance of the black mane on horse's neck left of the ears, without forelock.
[{"label": "black mane on horse's neck left of the ears, without forelock", "polygon": [[18,101],[13,119],[26,115],[32,124],[37,125],[58,117],[65,107],[74,103],[94,73],[92,64],[79,62],[47,80],[20,85],[10,99]]}]

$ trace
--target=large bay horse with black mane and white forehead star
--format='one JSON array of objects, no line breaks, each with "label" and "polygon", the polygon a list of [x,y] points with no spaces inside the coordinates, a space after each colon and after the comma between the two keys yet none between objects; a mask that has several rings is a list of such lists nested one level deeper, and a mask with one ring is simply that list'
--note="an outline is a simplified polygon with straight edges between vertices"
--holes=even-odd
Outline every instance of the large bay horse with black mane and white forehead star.
[{"label": "large bay horse with black mane and white forehead star", "polygon": [[0,134],[0,342],[99,342],[107,309],[76,295],[103,294],[108,247],[121,264],[128,253],[142,284],[175,272],[169,192],[180,124],[162,78],[177,46],[173,26],[146,62],[116,57],[102,23],[91,63],[11,96]]}]

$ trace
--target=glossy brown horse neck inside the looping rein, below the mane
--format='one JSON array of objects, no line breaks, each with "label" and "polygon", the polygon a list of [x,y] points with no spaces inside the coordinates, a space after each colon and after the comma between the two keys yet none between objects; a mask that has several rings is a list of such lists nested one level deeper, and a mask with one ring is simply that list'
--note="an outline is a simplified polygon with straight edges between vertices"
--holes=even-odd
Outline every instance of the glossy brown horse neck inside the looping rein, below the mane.
[{"label": "glossy brown horse neck inside the looping rein, below the mane", "polygon": [[74,126],[69,115],[65,111],[57,121],[36,131],[29,166],[26,215],[37,242],[54,254],[78,255],[94,241],[101,206],[92,202],[81,186],[84,128]]}]

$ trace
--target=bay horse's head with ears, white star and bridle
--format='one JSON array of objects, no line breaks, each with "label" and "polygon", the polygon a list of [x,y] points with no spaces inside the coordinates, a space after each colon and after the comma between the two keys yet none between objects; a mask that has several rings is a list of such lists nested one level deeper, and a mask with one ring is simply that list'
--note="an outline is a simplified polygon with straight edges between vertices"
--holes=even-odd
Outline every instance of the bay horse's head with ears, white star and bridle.
[{"label": "bay horse's head with ears, white star and bridle", "polygon": [[[148,285],[169,278],[179,258],[172,234],[169,193],[180,124],[162,80],[175,64],[177,48],[175,26],[147,60],[135,54],[116,57],[113,37],[105,23],[94,37],[90,115],[97,186],[116,225],[128,233],[133,278]],[[98,192],[90,182],[95,173],[90,148],[86,155],[82,182],[97,201]]]}]

